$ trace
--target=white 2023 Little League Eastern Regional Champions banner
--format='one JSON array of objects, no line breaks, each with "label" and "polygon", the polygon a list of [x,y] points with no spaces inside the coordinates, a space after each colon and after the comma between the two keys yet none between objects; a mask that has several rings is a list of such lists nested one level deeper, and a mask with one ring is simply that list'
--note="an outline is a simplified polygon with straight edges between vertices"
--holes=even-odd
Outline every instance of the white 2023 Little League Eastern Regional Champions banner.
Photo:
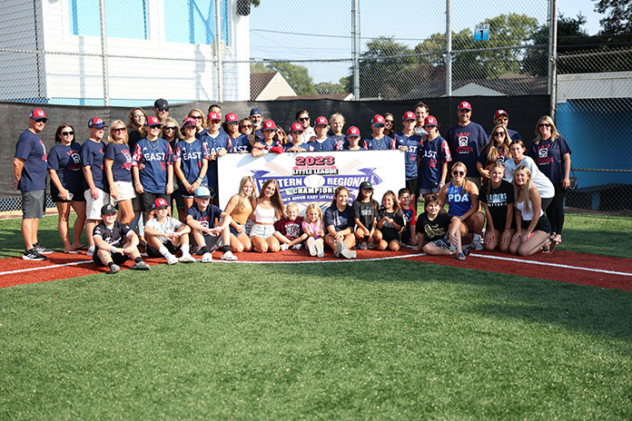
[{"label": "white 2023 Little League Eastern Regional Champions banner", "polygon": [[331,204],[333,191],[346,186],[350,202],[358,197],[362,181],[373,185],[373,199],[381,203],[386,191],[397,194],[406,186],[405,155],[400,151],[284,152],[253,158],[250,153],[227,153],[218,160],[220,207],[224,209],[239,182],[250,175],[257,192],[263,182],[276,179],[286,205],[297,202],[301,210],[316,202]]}]

